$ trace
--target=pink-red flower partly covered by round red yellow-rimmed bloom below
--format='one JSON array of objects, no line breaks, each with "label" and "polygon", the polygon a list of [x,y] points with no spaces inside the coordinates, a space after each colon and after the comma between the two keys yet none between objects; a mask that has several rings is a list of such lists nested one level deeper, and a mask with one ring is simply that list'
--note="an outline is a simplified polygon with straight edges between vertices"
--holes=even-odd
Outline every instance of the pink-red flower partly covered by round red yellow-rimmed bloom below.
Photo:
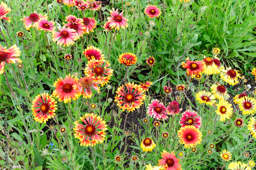
[{"label": "pink-red flower partly covered by round red yellow-rimmed bloom below", "polygon": [[194,125],[197,129],[199,129],[202,125],[201,117],[197,115],[196,112],[187,110],[181,116],[180,125],[181,127]]}]

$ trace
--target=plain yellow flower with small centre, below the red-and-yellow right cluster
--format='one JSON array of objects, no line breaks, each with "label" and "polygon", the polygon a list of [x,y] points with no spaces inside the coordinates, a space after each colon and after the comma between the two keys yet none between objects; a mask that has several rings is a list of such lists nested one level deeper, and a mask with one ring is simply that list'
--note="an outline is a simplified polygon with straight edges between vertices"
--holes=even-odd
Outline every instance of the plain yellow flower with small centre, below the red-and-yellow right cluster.
[{"label": "plain yellow flower with small centre, below the red-and-yellow right cluster", "polygon": [[225,121],[225,119],[230,119],[230,116],[233,114],[233,108],[230,103],[226,100],[220,100],[219,104],[216,104],[218,109],[216,113],[221,116],[220,121]]}]

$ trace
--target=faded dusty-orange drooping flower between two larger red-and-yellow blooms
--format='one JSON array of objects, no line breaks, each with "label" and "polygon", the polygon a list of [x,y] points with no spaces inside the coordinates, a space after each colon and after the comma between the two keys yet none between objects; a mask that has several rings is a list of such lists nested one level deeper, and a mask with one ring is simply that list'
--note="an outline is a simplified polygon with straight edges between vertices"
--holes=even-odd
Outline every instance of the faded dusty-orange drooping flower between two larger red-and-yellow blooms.
[{"label": "faded dusty-orange drooping flower between two larger red-and-yellow blooms", "polygon": [[76,84],[74,88],[79,90],[79,92],[83,95],[83,98],[90,99],[93,95],[92,88],[99,93],[99,87],[97,84],[99,84],[99,82],[93,81],[92,78],[83,77],[78,80],[78,84]]}]

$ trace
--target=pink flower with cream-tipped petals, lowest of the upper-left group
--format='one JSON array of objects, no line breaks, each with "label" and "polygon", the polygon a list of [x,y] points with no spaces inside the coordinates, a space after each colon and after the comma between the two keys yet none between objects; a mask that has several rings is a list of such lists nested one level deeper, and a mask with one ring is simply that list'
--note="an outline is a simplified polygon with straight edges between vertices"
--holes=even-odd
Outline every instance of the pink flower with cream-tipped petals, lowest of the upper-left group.
[{"label": "pink flower with cream-tipped petals, lowest of the upper-left group", "polygon": [[74,29],[69,29],[69,28],[65,28],[65,26],[63,26],[62,29],[59,29],[59,32],[57,31],[53,31],[52,32],[52,40],[54,42],[58,41],[57,44],[59,44],[60,46],[63,44],[64,46],[69,46],[74,44],[74,40],[77,40],[78,35],[76,33],[76,30]]}]

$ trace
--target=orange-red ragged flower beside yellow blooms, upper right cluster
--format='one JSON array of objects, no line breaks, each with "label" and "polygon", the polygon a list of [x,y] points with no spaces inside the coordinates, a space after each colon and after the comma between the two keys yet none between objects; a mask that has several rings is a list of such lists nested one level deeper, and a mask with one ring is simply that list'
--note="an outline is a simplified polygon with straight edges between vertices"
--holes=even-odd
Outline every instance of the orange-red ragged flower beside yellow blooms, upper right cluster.
[{"label": "orange-red ragged flower beside yellow blooms, upper right cluster", "polygon": [[190,61],[189,58],[186,60],[186,63],[182,62],[182,66],[187,69],[187,74],[191,75],[191,78],[194,78],[194,75],[197,75],[206,69],[203,61]]}]

